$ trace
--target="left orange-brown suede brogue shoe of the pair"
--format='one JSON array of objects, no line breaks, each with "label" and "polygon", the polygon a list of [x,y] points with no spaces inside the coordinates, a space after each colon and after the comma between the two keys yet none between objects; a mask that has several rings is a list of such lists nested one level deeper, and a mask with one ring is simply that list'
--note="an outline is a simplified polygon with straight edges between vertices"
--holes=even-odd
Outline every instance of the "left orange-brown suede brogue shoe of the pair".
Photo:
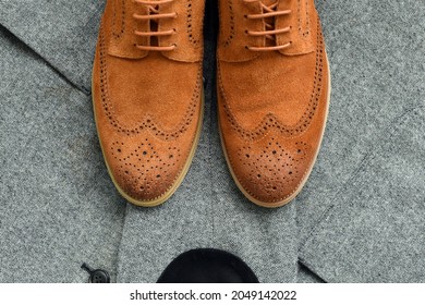
[{"label": "left orange-brown suede brogue shoe of the pair", "polygon": [[156,206],[178,188],[203,111],[204,1],[108,0],[93,73],[108,171],[132,204]]}]

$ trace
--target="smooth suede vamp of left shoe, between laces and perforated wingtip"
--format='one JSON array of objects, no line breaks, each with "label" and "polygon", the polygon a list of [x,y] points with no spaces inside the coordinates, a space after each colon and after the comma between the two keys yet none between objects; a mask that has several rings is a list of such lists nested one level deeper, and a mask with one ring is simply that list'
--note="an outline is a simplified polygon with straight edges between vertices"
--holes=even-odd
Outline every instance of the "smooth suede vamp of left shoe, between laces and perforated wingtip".
[{"label": "smooth suede vamp of left shoe, between laces and perforated wingtip", "polygon": [[142,60],[108,57],[108,91],[113,114],[126,127],[149,118],[163,130],[182,124],[195,90],[199,63],[151,52]]}]

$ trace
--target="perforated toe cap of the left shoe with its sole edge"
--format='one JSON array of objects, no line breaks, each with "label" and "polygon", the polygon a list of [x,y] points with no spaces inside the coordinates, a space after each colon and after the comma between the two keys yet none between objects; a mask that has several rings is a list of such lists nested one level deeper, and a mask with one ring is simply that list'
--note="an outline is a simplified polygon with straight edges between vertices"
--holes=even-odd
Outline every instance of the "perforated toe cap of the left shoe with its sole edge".
[{"label": "perforated toe cap of the left shoe with its sole edge", "polygon": [[155,206],[167,199],[184,168],[183,148],[175,144],[116,141],[106,148],[109,172],[119,192],[132,204]]}]

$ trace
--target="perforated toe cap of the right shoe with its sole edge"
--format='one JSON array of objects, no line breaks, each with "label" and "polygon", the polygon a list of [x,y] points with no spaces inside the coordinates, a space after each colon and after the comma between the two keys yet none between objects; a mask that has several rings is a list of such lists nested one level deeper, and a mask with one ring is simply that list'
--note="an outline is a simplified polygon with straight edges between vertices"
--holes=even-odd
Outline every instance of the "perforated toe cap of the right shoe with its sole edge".
[{"label": "perforated toe cap of the right shoe with its sole edge", "polygon": [[303,141],[268,136],[239,146],[230,157],[241,191],[255,204],[278,207],[301,190],[313,163],[313,149]]}]

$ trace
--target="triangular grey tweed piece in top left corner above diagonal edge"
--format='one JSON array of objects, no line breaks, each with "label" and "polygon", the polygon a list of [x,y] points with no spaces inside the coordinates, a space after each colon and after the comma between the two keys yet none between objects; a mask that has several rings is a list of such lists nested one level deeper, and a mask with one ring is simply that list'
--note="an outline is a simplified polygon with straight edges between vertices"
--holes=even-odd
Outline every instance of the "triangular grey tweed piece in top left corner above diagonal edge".
[{"label": "triangular grey tweed piece in top left corner above diagonal edge", "polygon": [[0,0],[0,24],[85,94],[104,1]]}]

